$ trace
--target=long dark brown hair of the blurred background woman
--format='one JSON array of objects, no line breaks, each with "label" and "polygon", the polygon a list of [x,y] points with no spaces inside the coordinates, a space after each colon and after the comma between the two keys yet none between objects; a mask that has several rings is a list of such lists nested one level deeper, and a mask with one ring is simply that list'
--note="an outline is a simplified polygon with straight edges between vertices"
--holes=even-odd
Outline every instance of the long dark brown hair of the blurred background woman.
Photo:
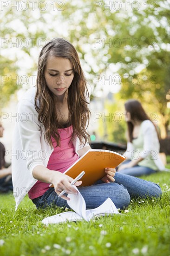
[{"label": "long dark brown hair of the blurred background woman", "polygon": [[[128,100],[124,103],[124,107],[125,107],[126,112],[129,112],[131,114],[131,119],[133,121],[144,121],[144,120],[151,121],[150,118],[148,117],[148,115],[145,113],[144,108],[142,107],[142,105],[139,101],[134,100],[134,99]],[[155,126],[154,123],[153,123],[153,125]],[[129,140],[131,142],[133,139],[133,135],[132,135],[133,128],[134,128],[133,123],[131,121],[128,121],[127,127],[128,127]],[[156,126],[155,126],[155,129],[157,131]],[[160,135],[159,135],[158,131],[157,131],[157,136],[158,136],[158,139],[160,140]]]}]

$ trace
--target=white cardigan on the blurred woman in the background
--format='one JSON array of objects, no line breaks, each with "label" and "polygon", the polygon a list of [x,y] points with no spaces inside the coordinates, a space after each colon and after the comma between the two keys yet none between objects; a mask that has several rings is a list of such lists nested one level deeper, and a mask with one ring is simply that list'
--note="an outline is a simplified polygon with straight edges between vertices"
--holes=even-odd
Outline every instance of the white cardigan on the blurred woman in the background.
[{"label": "white cardigan on the blurred woman in the background", "polygon": [[[144,149],[140,153],[140,156],[145,159],[146,156],[152,155],[153,160],[157,165],[157,169],[160,171],[165,170],[165,166],[159,156],[160,144],[159,144],[157,131],[155,129],[154,124],[149,120],[145,120],[141,123],[141,129],[142,129],[142,135],[144,137]],[[133,143],[128,142],[127,149],[126,149],[126,152],[124,153],[124,156],[127,159],[131,159],[133,155],[132,152],[134,150],[135,148]]]}]

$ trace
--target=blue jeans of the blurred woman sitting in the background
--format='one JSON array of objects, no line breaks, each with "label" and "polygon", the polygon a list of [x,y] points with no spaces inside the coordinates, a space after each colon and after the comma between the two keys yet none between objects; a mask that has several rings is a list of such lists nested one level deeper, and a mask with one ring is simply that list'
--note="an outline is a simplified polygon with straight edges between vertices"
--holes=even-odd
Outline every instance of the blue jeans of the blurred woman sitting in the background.
[{"label": "blue jeans of the blurred woman sitting in the background", "polygon": [[[126,164],[128,162],[131,162],[131,160],[126,160],[122,164]],[[120,170],[118,172],[119,173],[124,173],[124,174],[127,174],[127,175],[131,175],[131,176],[135,176],[135,177],[139,177],[139,176],[142,176],[142,175],[150,175],[150,174],[156,173],[157,171],[155,171],[155,170],[153,170],[149,167],[135,165],[131,168],[125,168],[125,169]]]}]

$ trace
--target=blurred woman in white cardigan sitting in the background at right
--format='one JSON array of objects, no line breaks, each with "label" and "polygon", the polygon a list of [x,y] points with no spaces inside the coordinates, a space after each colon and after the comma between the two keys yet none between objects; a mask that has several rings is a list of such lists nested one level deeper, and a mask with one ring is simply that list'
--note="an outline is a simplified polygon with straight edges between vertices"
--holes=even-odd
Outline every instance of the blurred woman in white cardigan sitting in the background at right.
[{"label": "blurred woman in white cardigan sitting in the background at right", "polygon": [[159,157],[159,135],[154,123],[146,115],[141,103],[128,100],[125,106],[127,122],[127,158],[118,167],[118,172],[132,175],[150,175],[165,169]]}]

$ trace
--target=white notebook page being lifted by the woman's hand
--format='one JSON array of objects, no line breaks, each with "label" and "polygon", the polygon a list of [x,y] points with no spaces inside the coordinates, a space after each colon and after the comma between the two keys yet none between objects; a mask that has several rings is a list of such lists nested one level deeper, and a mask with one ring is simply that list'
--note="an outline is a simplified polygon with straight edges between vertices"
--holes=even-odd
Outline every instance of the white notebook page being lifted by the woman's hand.
[{"label": "white notebook page being lifted by the woman's hand", "polygon": [[85,204],[85,199],[83,196],[80,194],[79,190],[77,189],[76,186],[72,185],[77,191],[78,194],[68,194],[67,197],[70,198],[70,201],[67,201],[68,205],[70,206],[71,209],[73,209],[79,216],[84,218],[87,221],[87,216],[86,216],[86,204]]}]

